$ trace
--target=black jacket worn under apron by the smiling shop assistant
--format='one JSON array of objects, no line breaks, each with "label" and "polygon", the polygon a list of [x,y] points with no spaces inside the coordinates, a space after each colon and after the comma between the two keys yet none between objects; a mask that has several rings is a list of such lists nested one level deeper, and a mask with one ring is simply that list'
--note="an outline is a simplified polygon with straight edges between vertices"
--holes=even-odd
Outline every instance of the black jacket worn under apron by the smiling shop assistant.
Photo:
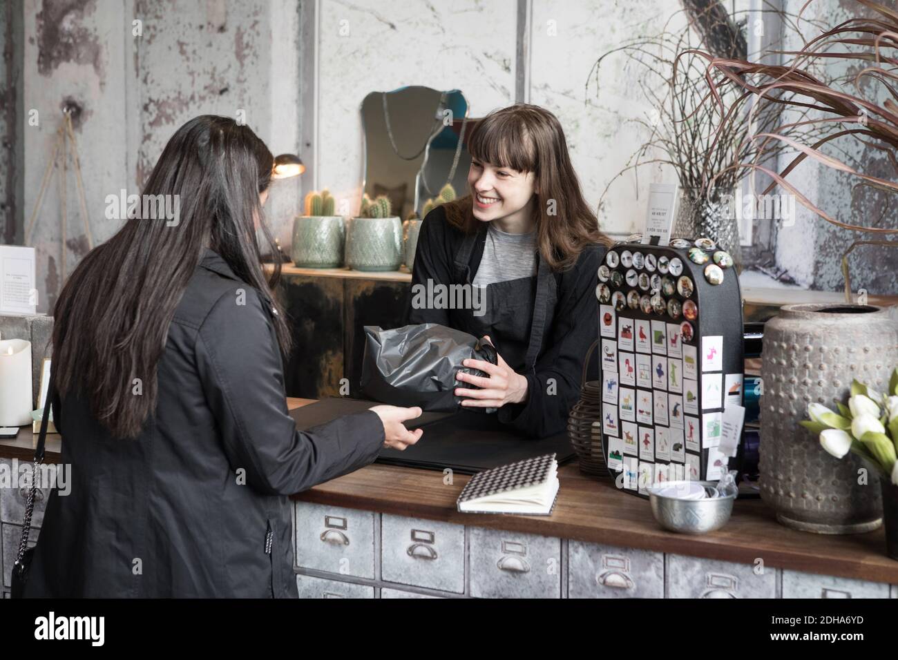
[{"label": "black jacket worn under apron by the smiling shop assistant", "polygon": [[[418,247],[411,277],[412,286],[432,279],[435,284],[464,284],[453,276],[453,261],[462,244],[462,230],[450,224],[445,209],[436,207],[421,223]],[[476,276],[483,257],[484,242],[471,252],[468,265],[471,279]],[[558,292],[553,319],[543,330],[543,341],[534,368],[527,378],[527,400],[509,403],[497,410],[499,422],[532,436],[552,436],[568,426],[568,414],[580,397],[580,381],[586,351],[599,337],[599,306],[595,298],[596,272],[602,265],[607,248],[589,245],[582,251],[573,268],[553,273]],[[455,327],[453,314],[471,313],[452,309],[421,308],[409,305],[404,323],[440,323]],[[492,338],[497,339],[497,338]],[[598,351],[595,351],[598,354]],[[587,379],[597,378],[597,355],[593,358]],[[554,379],[555,394],[546,392],[549,379]]]}]

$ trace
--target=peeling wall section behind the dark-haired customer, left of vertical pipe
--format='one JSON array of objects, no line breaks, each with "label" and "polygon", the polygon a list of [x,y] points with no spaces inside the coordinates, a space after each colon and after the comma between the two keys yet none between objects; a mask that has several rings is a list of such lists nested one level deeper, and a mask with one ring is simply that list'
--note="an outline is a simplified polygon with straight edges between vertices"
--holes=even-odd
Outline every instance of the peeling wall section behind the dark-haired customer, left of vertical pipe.
[{"label": "peeling wall section behind the dark-haired customer, left of vertical pipe", "polygon": [[[75,136],[93,245],[122,222],[105,217],[106,197],[139,192],[187,119],[242,110],[276,154],[299,150],[296,0],[24,0],[23,13],[22,94],[25,108],[40,116],[40,126],[19,123],[26,220],[66,101],[79,108]],[[63,283],[60,173],[29,242],[38,254],[42,312],[52,309]],[[71,169],[66,184],[67,275],[89,246]],[[270,198],[267,211],[283,237],[298,205],[298,181],[278,181]]]}]

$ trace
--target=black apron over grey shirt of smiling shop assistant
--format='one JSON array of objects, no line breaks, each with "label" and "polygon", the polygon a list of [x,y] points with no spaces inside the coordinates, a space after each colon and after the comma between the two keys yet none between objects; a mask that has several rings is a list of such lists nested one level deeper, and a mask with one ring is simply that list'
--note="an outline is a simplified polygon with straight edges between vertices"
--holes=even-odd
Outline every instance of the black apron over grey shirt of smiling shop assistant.
[{"label": "black apron over grey shirt of smiling shop assistant", "polygon": [[[453,264],[456,282],[473,286],[468,261],[475,241],[484,241],[488,229],[487,223],[481,223],[477,233],[465,234]],[[456,309],[451,312],[453,328],[468,332],[478,339],[489,335],[498,354],[518,374],[535,374],[543,333],[551,324],[558,300],[555,277],[539,251],[536,253],[536,260],[539,265],[535,276],[487,285],[485,294],[481,294],[484,296],[481,301],[486,303],[482,316],[475,316],[472,309]],[[531,394],[532,392],[528,392],[528,396]],[[491,428],[502,426],[495,415],[484,416],[482,413],[486,410],[462,407],[459,422],[470,422],[473,427],[483,427],[484,424]]]}]

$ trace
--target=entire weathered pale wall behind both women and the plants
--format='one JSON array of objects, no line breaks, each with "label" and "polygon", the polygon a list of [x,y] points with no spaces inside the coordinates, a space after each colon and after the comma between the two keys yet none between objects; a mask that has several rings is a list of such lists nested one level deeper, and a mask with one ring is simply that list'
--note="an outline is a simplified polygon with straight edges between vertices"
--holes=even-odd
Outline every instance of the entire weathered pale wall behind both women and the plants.
[{"label": "entire weathered pale wall behind both women and the plants", "polygon": [[[329,187],[355,209],[363,167],[360,103],[368,92],[409,84],[461,89],[472,117],[515,101],[553,111],[565,127],[586,197],[597,205],[607,182],[646,138],[629,119],[647,117],[650,108],[633,84],[632,69],[603,66],[596,79],[590,77],[594,62],[622,39],[660,30],[679,7],[678,0],[19,3],[24,39],[17,47],[22,79],[15,91],[22,115],[14,121],[24,155],[17,162],[23,199],[13,209],[18,235],[36,202],[61,108],[74,101],[94,245],[120,224],[103,216],[105,197],[123,188],[138,191],[181,123],[202,113],[234,116],[238,110],[274,153],[299,153],[309,167],[302,180],[277,182],[266,208],[269,223],[288,244],[305,189]],[[814,7],[834,21],[848,3],[821,0]],[[134,33],[135,20],[141,21],[140,35]],[[0,94],[3,85],[0,77]],[[27,124],[31,109],[39,111],[40,126]],[[39,257],[40,311],[51,309],[62,285],[62,255],[70,273],[89,249],[68,173],[65,240],[57,180],[31,238]],[[796,175],[807,179],[811,193],[834,196],[843,217],[859,221],[875,206],[851,207],[845,184],[829,172]],[[606,232],[620,236],[638,227],[652,180],[672,175],[648,168],[615,183],[601,214]],[[0,199],[4,194],[0,188]],[[841,276],[833,246],[841,238],[834,231],[800,217],[770,248],[802,285],[836,289]],[[4,240],[10,235],[7,228]],[[806,249],[808,237],[814,251]],[[871,293],[893,292],[896,259],[877,258],[875,267],[858,270],[858,282]]]}]

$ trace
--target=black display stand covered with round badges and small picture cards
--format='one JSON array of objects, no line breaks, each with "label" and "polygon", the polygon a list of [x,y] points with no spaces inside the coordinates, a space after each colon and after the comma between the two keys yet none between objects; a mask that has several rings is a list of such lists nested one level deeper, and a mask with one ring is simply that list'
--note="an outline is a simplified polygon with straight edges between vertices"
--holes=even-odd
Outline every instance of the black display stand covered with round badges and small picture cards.
[{"label": "black display stand covered with round badges and small picture cards", "polygon": [[718,449],[723,410],[743,405],[742,296],[729,255],[708,239],[618,243],[595,295],[612,477],[642,497],[659,481],[718,480],[729,460]]}]

